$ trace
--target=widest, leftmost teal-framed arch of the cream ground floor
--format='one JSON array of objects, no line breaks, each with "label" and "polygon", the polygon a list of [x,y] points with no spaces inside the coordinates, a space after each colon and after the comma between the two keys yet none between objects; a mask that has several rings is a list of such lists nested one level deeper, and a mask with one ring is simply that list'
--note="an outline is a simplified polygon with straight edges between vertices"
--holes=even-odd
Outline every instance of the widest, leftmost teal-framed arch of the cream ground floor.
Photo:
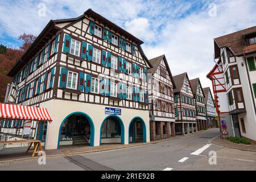
[{"label": "widest, leftmost teal-framed arch of the cream ground floor", "polygon": [[59,146],[94,146],[94,125],[89,115],[82,112],[69,114],[60,125]]}]

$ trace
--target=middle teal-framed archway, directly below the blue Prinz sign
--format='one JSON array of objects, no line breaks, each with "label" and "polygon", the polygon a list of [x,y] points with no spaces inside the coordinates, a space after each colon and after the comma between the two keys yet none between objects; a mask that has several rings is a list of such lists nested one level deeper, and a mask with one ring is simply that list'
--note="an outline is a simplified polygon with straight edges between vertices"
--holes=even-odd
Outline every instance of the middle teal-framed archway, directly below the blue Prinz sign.
[{"label": "middle teal-framed archway, directly below the blue Prinz sign", "polygon": [[101,124],[100,145],[102,143],[125,144],[125,127],[117,115],[109,115]]}]

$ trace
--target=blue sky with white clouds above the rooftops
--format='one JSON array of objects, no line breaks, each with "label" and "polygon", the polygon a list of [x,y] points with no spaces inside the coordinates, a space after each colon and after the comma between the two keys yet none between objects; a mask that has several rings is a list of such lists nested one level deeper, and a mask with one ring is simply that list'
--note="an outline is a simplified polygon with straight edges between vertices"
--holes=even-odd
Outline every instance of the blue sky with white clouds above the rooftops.
[{"label": "blue sky with white clouds above the rooftops", "polygon": [[49,20],[91,8],[141,39],[148,59],[166,55],[173,76],[187,72],[211,88],[213,39],[255,26],[255,7],[255,0],[0,0],[0,44],[18,48],[23,32],[39,35]]}]

